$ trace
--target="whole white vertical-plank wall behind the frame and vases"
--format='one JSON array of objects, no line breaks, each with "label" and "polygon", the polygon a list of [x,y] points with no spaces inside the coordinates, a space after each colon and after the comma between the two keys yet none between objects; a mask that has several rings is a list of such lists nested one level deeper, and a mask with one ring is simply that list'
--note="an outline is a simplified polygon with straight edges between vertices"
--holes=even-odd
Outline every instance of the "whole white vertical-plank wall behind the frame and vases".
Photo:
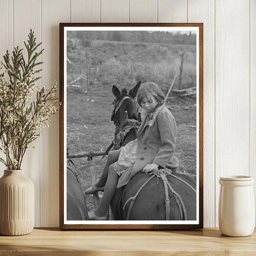
[{"label": "whole white vertical-plank wall behind the frame and vases", "polygon": [[[58,81],[60,22],[204,23],[204,226],[218,226],[218,178],[256,178],[256,0],[0,0],[0,56],[32,28],[42,79]],[[26,153],[36,226],[58,226],[58,114]],[[0,173],[4,166],[0,166]]]}]

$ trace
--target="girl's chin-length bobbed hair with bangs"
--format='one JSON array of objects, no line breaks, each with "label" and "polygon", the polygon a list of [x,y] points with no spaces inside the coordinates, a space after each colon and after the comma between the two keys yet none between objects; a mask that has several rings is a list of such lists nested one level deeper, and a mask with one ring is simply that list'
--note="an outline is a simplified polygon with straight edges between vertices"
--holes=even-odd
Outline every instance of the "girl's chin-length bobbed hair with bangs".
[{"label": "girl's chin-length bobbed hair with bangs", "polygon": [[154,97],[158,105],[164,103],[164,94],[154,82],[145,82],[138,89],[137,101],[138,105],[142,106],[141,103],[145,98]]}]

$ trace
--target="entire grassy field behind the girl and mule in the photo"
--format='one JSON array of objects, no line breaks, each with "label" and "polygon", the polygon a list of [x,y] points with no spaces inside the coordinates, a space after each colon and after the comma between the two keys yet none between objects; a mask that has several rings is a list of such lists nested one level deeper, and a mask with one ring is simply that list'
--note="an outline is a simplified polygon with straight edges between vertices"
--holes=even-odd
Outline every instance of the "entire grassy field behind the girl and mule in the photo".
[{"label": "entire grassy field behind the girl and mule in the photo", "polygon": [[[186,48],[186,49],[185,49]],[[180,62],[180,52],[186,50],[183,87],[195,86],[195,50],[192,46],[164,44],[143,44],[130,42],[92,41],[90,47],[76,46],[68,49],[71,65],[68,67],[68,82],[84,70],[84,56],[90,53],[90,92],[68,87],[67,92],[67,148],[69,153],[106,150],[114,136],[111,122],[113,110],[113,84],[131,89],[138,81],[154,81],[164,94],[169,89],[175,70]],[[143,60],[143,61],[142,61]],[[172,95],[167,101],[177,122],[176,156],[180,161],[178,171],[196,174],[196,98],[180,98]],[[98,161],[95,158],[94,161]],[[90,186],[90,175],[86,158],[76,158],[79,178],[83,189]],[[98,180],[102,166],[95,166]],[[81,168],[79,168],[81,167]]]}]

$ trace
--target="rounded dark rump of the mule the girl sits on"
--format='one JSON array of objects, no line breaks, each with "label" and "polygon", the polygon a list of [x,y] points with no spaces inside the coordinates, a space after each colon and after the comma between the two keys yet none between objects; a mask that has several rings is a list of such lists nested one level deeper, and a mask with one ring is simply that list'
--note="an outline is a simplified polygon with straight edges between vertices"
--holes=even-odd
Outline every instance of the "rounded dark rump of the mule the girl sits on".
[{"label": "rounded dark rump of the mule the girl sits on", "polygon": [[116,190],[114,220],[196,220],[196,184],[183,174],[166,177],[172,188],[167,194],[161,177],[144,172]]}]

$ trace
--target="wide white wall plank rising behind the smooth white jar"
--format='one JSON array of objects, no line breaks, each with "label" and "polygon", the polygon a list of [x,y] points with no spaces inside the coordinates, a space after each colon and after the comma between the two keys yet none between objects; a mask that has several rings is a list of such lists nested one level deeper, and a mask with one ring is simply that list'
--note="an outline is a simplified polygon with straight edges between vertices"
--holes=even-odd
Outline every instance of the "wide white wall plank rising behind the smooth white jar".
[{"label": "wide white wall plank rising behind the smooth white jar", "polygon": [[[217,0],[215,4],[215,31],[218,31],[215,36],[215,225],[218,226],[219,178],[249,175],[249,0]],[[237,10],[239,18],[233,15]]]}]

